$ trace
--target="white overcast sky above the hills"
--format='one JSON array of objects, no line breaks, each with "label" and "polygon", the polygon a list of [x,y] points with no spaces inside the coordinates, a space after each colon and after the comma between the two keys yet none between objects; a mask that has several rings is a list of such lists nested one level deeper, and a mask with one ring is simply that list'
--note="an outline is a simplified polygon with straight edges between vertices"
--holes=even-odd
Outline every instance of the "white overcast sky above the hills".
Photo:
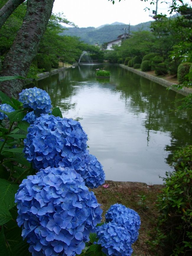
[{"label": "white overcast sky above the hills", "polygon": [[[158,0],[158,13],[165,14],[167,4],[161,3],[162,1]],[[149,2],[150,0],[148,2],[121,0],[120,3],[115,1],[113,5],[108,0],[55,0],[53,13],[63,12],[66,19],[74,22],[78,27],[99,27],[116,21],[125,24],[130,21],[131,25],[136,25],[153,20],[149,14],[152,14],[156,6],[150,5]],[[168,0],[168,2],[172,1]],[[192,4],[192,0],[183,0],[183,2]],[[145,12],[145,7],[149,7],[150,12],[148,10]]]}]

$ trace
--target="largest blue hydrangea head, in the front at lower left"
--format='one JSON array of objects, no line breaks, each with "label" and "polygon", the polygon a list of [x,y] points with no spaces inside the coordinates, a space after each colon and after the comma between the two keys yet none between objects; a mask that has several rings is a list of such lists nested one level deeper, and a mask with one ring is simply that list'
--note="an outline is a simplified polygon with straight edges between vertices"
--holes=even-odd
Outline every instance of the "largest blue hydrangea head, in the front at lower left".
[{"label": "largest blue hydrangea head, in the front at lower left", "polygon": [[94,193],[73,168],[45,168],[24,179],[15,195],[18,226],[33,256],[74,256],[101,221]]}]

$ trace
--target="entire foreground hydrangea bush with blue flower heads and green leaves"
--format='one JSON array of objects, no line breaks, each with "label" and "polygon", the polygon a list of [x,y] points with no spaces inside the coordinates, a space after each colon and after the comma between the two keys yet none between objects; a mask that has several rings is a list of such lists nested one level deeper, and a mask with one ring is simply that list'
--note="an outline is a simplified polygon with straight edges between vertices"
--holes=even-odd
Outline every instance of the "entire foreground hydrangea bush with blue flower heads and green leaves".
[{"label": "entire foreground hydrangea bush with blue flower heads and green leaves", "polygon": [[[0,99],[4,253],[28,253],[17,227],[10,228],[15,197],[17,223],[32,256],[131,255],[139,215],[115,204],[106,214],[107,223],[97,226],[102,210],[89,187],[102,185],[105,174],[87,149],[81,124],[63,118],[58,107],[51,110],[48,93],[36,87],[22,90],[19,101],[2,92]],[[13,234],[15,242],[9,244],[7,237]]]}]

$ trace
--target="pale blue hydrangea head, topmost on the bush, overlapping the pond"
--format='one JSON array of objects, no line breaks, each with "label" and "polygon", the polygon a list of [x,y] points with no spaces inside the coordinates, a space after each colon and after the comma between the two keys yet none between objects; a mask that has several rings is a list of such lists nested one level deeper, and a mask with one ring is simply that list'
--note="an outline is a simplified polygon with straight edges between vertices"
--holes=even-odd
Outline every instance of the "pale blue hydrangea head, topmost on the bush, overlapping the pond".
[{"label": "pale blue hydrangea head, topmost on the bush, overlapping the pond", "polygon": [[22,90],[19,93],[19,101],[24,108],[32,108],[36,116],[48,114],[51,111],[51,99],[45,90],[34,87]]}]

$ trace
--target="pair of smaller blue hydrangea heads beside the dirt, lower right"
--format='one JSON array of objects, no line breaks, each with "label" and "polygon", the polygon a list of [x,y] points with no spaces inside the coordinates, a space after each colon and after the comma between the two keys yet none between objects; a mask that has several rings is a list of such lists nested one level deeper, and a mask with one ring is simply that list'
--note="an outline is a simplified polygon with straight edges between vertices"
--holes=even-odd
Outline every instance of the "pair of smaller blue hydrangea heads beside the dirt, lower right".
[{"label": "pair of smaller blue hydrangea heads beside the dirt, lower right", "polygon": [[117,203],[111,205],[105,219],[107,223],[96,228],[102,251],[107,255],[130,256],[141,224],[138,213]]}]

